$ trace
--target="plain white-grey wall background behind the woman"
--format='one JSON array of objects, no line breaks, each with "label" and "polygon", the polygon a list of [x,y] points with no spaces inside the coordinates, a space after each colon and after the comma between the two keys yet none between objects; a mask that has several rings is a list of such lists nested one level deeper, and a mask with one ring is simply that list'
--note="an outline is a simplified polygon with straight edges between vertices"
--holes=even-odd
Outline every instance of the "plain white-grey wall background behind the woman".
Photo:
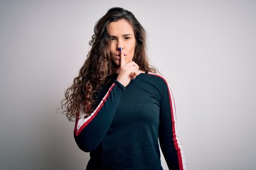
[{"label": "plain white-grey wall background behind the woman", "polygon": [[[0,1],[1,169],[85,169],[56,114],[107,9],[132,11],[176,99],[188,168],[255,169],[256,1]],[[164,169],[166,164],[163,161]]]}]

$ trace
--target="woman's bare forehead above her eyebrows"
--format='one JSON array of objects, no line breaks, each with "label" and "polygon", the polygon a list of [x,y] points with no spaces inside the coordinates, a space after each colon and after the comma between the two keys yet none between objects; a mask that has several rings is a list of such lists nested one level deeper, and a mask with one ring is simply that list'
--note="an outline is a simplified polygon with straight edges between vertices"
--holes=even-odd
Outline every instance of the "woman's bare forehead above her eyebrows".
[{"label": "woman's bare forehead above her eyebrows", "polygon": [[107,26],[110,35],[114,34],[134,34],[132,25],[127,20],[112,21]]}]

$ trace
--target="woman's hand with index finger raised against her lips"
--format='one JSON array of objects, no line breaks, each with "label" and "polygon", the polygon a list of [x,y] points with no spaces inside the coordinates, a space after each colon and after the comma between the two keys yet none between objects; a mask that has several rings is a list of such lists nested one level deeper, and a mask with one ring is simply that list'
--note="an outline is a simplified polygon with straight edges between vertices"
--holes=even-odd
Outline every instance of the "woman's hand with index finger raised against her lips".
[{"label": "woman's hand with index finger raised against her lips", "polygon": [[117,81],[124,87],[129,84],[132,79],[135,79],[139,74],[139,66],[135,62],[125,62],[124,52],[120,51],[120,68],[117,76]]}]

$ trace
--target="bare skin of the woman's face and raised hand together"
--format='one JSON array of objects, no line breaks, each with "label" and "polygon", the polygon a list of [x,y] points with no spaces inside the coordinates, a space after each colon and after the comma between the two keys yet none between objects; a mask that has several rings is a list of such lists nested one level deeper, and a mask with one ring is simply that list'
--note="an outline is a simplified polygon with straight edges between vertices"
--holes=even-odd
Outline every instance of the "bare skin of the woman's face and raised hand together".
[{"label": "bare skin of the woman's face and raised hand together", "polygon": [[136,39],[131,24],[122,19],[111,22],[108,26],[112,61],[116,64],[117,81],[127,86],[132,79],[142,73],[139,66],[132,61],[136,47]]}]

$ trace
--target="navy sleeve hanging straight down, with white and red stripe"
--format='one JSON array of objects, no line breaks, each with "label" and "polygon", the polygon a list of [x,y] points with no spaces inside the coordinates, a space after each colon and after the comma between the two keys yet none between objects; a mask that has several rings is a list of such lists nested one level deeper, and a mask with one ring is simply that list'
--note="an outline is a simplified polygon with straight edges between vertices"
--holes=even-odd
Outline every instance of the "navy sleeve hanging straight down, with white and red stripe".
[{"label": "navy sleeve hanging straight down, with white and red stripe", "polygon": [[187,169],[186,159],[179,137],[176,133],[176,113],[174,98],[167,81],[161,90],[159,143],[169,169]]}]

